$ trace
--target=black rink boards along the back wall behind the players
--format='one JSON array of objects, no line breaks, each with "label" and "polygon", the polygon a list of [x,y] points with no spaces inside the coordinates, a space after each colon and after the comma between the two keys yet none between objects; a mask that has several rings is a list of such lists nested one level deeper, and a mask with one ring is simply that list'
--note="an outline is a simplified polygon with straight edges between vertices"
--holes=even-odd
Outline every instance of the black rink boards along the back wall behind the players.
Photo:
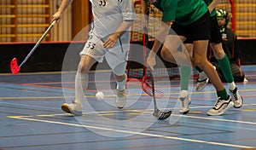
[{"label": "black rink boards along the back wall behind the players", "polygon": [[[239,47],[241,50],[241,65],[255,65],[256,64],[256,50],[254,49],[256,39],[239,39]],[[148,47],[152,46],[153,42],[149,42]],[[35,43],[0,43],[0,72],[10,72],[9,63],[14,57],[17,58],[20,65],[26,55],[34,47]],[[55,72],[55,71],[76,71],[79,63],[79,52],[83,49],[84,43],[41,43],[34,51],[32,56],[21,67],[20,72]],[[68,53],[67,52],[68,49]],[[142,43],[131,44],[131,58],[141,60],[143,62]],[[62,69],[62,63],[65,55],[65,68]],[[173,66],[173,64],[166,63],[166,66]],[[95,69],[96,65],[91,69]],[[103,63],[103,68],[108,68],[108,65]],[[132,66],[131,67],[136,67]]]}]

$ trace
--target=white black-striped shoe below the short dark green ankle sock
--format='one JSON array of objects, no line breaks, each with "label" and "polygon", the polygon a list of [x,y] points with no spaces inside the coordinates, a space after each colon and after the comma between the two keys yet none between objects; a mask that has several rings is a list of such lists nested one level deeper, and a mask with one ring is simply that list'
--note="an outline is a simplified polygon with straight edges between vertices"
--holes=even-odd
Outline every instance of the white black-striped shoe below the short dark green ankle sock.
[{"label": "white black-striped shoe below the short dark green ankle sock", "polygon": [[218,97],[217,102],[215,103],[214,107],[210,109],[207,114],[209,116],[218,116],[222,115],[227,109],[229,109],[232,105],[234,105],[234,102],[231,101],[231,96],[229,96],[228,100],[220,100]]}]

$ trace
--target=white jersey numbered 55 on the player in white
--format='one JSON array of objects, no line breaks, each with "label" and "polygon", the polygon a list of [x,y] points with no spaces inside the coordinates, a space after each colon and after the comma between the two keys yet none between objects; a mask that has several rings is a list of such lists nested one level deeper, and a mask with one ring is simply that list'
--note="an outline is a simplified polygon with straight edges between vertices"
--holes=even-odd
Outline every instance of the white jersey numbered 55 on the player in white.
[{"label": "white jersey numbered 55 on the player in white", "polygon": [[[135,20],[136,14],[131,0],[90,0],[94,21],[90,34],[97,38],[106,38],[116,32],[120,24]],[[129,38],[126,32],[121,38]]]}]

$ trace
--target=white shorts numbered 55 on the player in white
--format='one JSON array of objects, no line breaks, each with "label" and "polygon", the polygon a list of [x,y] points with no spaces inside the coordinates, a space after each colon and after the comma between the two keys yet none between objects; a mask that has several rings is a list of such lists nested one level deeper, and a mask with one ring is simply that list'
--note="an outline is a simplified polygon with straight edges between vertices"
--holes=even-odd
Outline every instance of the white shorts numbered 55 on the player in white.
[{"label": "white shorts numbered 55 on the player in white", "polygon": [[90,55],[98,62],[102,62],[105,57],[113,73],[118,76],[123,75],[130,50],[130,39],[119,38],[115,46],[111,49],[105,49],[103,43],[102,39],[91,36],[87,43],[85,43],[80,55]]}]

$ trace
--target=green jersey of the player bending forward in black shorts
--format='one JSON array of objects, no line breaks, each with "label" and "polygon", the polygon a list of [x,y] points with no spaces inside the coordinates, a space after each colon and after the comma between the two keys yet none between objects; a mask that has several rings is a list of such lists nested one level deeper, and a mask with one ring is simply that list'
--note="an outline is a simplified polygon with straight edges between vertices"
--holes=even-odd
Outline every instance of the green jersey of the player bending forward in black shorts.
[{"label": "green jersey of the player bending forward in black shorts", "polygon": [[162,12],[163,21],[175,20],[183,26],[195,22],[208,11],[202,0],[157,0],[153,4]]}]

